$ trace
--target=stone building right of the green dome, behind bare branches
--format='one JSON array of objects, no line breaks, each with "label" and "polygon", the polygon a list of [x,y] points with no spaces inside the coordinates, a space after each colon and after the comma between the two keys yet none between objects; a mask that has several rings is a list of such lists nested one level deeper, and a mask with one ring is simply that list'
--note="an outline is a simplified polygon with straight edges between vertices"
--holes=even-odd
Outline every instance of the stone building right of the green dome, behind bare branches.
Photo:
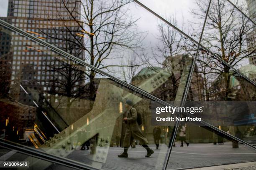
[{"label": "stone building right of the green dome, behind bare branches", "polygon": [[[167,100],[181,100],[183,88],[180,87],[186,84],[184,79],[186,80],[189,73],[192,60],[193,58],[189,55],[175,55],[168,57],[163,62],[164,70],[171,74],[169,79],[162,86],[164,93],[166,93],[164,95],[167,95]],[[203,99],[202,82],[202,76],[198,73],[198,67],[195,65],[195,72],[192,75],[187,100],[198,101]]]}]

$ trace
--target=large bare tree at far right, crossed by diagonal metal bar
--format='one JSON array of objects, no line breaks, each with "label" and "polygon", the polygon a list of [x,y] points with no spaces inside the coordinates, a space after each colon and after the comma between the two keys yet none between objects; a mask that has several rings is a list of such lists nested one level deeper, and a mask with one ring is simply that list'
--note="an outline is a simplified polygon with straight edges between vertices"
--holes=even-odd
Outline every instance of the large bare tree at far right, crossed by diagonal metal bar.
[{"label": "large bare tree at far right, crossed by diagonal metal bar", "polygon": [[[200,18],[205,15],[208,2],[197,0],[196,3],[200,10],[192,10],[192,14]],[[242,8],[243,6],[238,7]],[[248,33],[253,30],[252,28],[250,20],[230,5],[229,2],[215,0],[211,2],[202,44],[215,55],[228,62],[228,64],[238,68],[238,66],[246,62],[246,58],[251,57],[255,53],[255,48],[247,46],[247,42],[253,38],[248,36]],[[201,49],[198,61],[203,67],[200,67],[198,71],[204,75],[212,76],[215,74],[215,77],[218,77],[218,79],[223,78],[221,82],[223,85],[221,86],[225,89],[225,95],[222,96],[222,100],[230,100],[230,97],[228,97],[231,92],[229,90],[230,67],[220,62],[220,60],[213,60],[212,58],[212,55]],[[212,77],[206,76],[205,78],[212,84]]]}]

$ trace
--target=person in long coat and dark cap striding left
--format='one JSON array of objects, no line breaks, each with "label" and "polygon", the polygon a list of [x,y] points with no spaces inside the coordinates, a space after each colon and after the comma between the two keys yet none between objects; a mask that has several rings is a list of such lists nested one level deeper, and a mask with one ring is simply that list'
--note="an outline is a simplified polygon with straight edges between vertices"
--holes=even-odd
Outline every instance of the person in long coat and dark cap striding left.
[{"label": "person in long coat and dark cap striding left", "polygon": [[154,151],[148,147],[148,140],[143,136],[141,129],[137,122],[137,110],[132,107],[133,103],[131,100],[125,102],[125,107],[127,109],[126,117],[123,118],[124,122],[127,124],[125,131],[125,137],[123,140],[124,152],[121,155],[118,155],[120,158],[128,157],[128,148],[131,145],[133,139],[139,140],[140,145],[142,145],[147,150],[146,157],[150,157]]}]

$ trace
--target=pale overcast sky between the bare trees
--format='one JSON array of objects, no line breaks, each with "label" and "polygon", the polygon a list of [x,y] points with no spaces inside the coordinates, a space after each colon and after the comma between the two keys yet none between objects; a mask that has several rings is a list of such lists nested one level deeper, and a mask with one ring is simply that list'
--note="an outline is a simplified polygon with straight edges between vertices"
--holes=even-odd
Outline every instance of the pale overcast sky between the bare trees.
[{"label": "pale overcast sky between the bare trees", "polygon": [[[141,3],[146,5],[148,8],[159,14],[166,20],[176,18],[177,20],[177,28],[183,30],[183,32],[189,34],[191,31],[196,30],[195,32],[200,32],[202,27],[200,25],[203,23],[204,18],[199,19],[192,15],[192,10],[199,10],[199,7],[196,5],[197,0],[139,0]],[[208,2],[209,0],[205,0]],[[236,0],[232,0],[234,2]],[[243,0],[241,0],[243,1]],[[207,8],[207,6],[205,6]],[[7,8],[8,8],[8,0],[0,0],[0,17],[5,17],[7,15]],[[155,52],[155,48],[159,45],[159,29],[158,24],[163,23],[159,18],[154,16],[153,14],[149,13],[143,7],[138,5],[137,3],[131,3],[128,5],[130,9],[130,15],[134,18],[139,19],[137,22],[137,29],[139,32],[145,33],[145,39],[143,40],[143,47],[145,50],[143,51],[143,55],[147,56],[148,59],[152,59],[152,63],[154,61],[153,51]],[[182,28],[183,24],[183,28]],[[189,34],[191,35],[191,34]],[[195,37],[195,40],[199,39],[199,34]],[[153,49],[153,50],[152,50]],[[124,58],[127,59],[129,56],[132,58],[134,57],[133,53],[130,53],[127,50],[118,51],[117,54],[114,55],[125,56]],[[125,64],[125,61],[122,61],[123,58],[120,57],[120,60],[105,60],[106,63],[116,64],[119,65],[120,62]],[[163,58],[164,60],[164,58]],[[127,61],[126,61],[127,62]],[[142,61],[143,62],[143,61]],[[162,62],[162,61],[158,61]],[[157,63],[154,66],[158,66]]]}]

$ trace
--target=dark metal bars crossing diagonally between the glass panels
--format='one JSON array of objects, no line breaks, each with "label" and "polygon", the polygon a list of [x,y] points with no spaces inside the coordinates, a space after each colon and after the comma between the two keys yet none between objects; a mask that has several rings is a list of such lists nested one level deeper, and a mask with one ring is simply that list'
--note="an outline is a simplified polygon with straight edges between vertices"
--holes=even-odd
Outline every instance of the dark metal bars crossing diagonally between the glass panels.
[{"label": "dark metal bars crossing diagonally between the glass panels", "polygon": [[[208,50],[206,47],[204,47],[203,45],[201,45],[201,40],[202,40],[202,35],[203,35],[203,31],[204,31],[204,28],[205,28],[205,23],[206,23],[206,19],[207,19],[207,15],[208,15],[208,11],[209,11],[209,8],[210,8],[210,4],[211,4],[211,0],[209,1],[209,5],[208,5],[208,9],[207,9],[207,14],[205,16],[205,22],[204,22],[204,25],[203,25],[203,28],[202,28],[202,32],[201,32],[201,35],[200,35],[200,40],[199,42],[197,42],[196,40],[194,40],[192,37],[190,37],[189,35],[187,35],[186,33],[182,32],[182,30],[179,30],[179,28],[175,27],[174,25],[172,25],[171,23],[169,23],[167,20],[165,20],[164,18],[162,18],[160,15],[154,13],[154,11],[150,10],[148,7],[146,7],[145,5],[143,5],[141,2],[139,2],[138,0],[133,0],[134,2],[136,2],[138,5],[140,5],[141,7],[145,8],[146,10],[148,10],[148,12],[152,13],[153,15],[155,15],[157,18],[161,19],[162,21],[164,21],[165,23],[167,23],[169,26],[171,26],[172,28],[174,28],[175,30],[179,31],[180,33],[182,33],[184,36],[186,36],[187,38],[189,38],[192,42],[195,42],[195,44],[198,45],[197,47],[197,53],[196,53],[196,56],[195,58],[193,59],[193,62],[192,62],[192,67],[190,67],[190,70],[189,70],[189,76],[187,77],[187,82],[186,82],[186,86],[185,86],[185,90],[183,92],[183,97],[182,97],[182,105],[184,105],[185,101],[186,101],[186,98],[187,98],[187,93],[188,93],[188,90],[189,90],[189,86],[190,86],[190,82],[192,80],[192,74],[194,72],[194,68],[195,68],[195,62],[196,62],[196,59],[197,59],[197,56],[198,56],[198,52],[199,52],[199,48],[201,47],[202,49],[206,50],[207,52],[209,52],[211,55],[213,55],[214,57],[216,57],[218,60],[220,60],[221,62],[223,62],[225,65],[227,65],[228,67],[230,67],[231,69],[233,69],[235,72],[237,72],[239,75],[241,75],[243,78],[245,78],[248,82],[251,82],[251,84],[255,85],[256,86],[256,83],[253,82],[253,80],[251,80],[250,78],[248,78],[246,75],[244,75],[243,73],[241,73],[239,70],[235,69],[234,67],[232,67],[231,65],[229,65],[227,62],[225,62],[225,60],[223,60],[222,58],[218,57],[217,55],[215,55],[214,53],[212,53],[210,50]],[[232,2],[230,2],[229,0],[227,0],[231,5],[233,5],[236,9],[238,9]],[[238,9],[239,10],[239,9]],[[242,15],[245,15],[241,10],[239,10],[241,12]],[[245,15],[246,16],[246,15]],[[248,17],[246,16],[246,18],[248,18],[254,25],[255,23]],[[55,47],[54,45],[51,45],[41,39],[39,39],[38,37],[34,37],[33,35],[30,35],[28,34],[27,32],[25,32],[24,30],[21,30],[20,28],[17,28],[3,20],[0,20],[0,25],[3,25],[5,26],[6,28],[9,28],[15,32],[18,32],[38,43],[40,43],[41,45],[45,46],[45,47],[48,47],[49,49],[53,50],[54,52],[57,52],[61,55],[64,55],[65,57],[68,57],[78,63],[80,63],[81,65],[84,65],[86,67],[90,67],[92,70],[95,70],[96,72],[102,74],[102,75],[106,75],[108,77],[110,77],[111,80],[115,81],[115,82],[118,82],[119,84],[125,86],[125,87],[128,87],[129,89],[132,89],[138,93],[140,93],[141,95],[151,99],[151,100],[154,100],[154,101],[157,101],[163,105],[170,105],[169,103],[159,99],[158,97],[155,97],[154,95],[151,95],[150,93],[144,91],[144,90],[141,90],[140,88],[136,87],[136,86],[133,86],[131,84],[128,84],[127,82],[123,82],[121,81],[120,79],[112,76],[112,75],[109,75],[108,73],[102,71],[102,70],[99,70],[97,69],[96,67],[84,62],[83,60],[79,59],[78,57],[75,57],[73,55],[70,55],[69,53],[59,49],[58,47]],[[172,106],[172,105],[171,105]],[[244,143],[245,145],[253,148],[256,150],[256,147],[249,144],[249,143],[246,143],[245,141],[239,139],[239,138],[236,138],[235,136],[233,135],[230,135],[226,132],[224,132],[223,130],[220,130],[218,128],[216,128],[215,126],[213,125],[210,125],[209,123],[207,122],[204,122],[204,121],[201,121],[202,124],[208,126],[209,128],[211,128],[212,130],[215,130],[229,138],[232,138],[234,140],[237,140],[241,143]],[[178,131],[178,126],[179,126],[179,122],[175,122],[175,126],[174,126],[174,130],[172,131],[172,136],[170,138],[170,141],[169,141],[169,155],[168,155],[168,158],[165,162],[165,169],[167,169],[167,165],[168,165],[168,160],[170,158],[170,154],[171,154],[171,151],[172,151],[172,146],[174,144],[174,141],[175,141],[175,138],[176,138],[176,135],[177,135],[177,131]],[[92,168],[92,167],[87,167],[87,166],[84,166],[84,165],[78,165],[77,163],[73,163],[73,161],[71,160],[68,160],[68,159],[65,159],[65,158],[57,158],[55,156],[52,156],[52,155],[49,155],[49,154],[46,154],[46,153],[41,153],[41,152],[38,152],[38,153],[35,153],[34,151],[31,152],[31,150],[29,149],[26,149],[26,148],[22,148],[20,146],[15,146],[13,145],[12,143],[7,143],[6,141],[0,141],[0,145],[5,147],[5,148],[11,148],[11,149],[15,149],[15,150],[19,150],[20,152],[22,153],[25,153],[27,155],[34,155],[36,156],[37,158],[43,158],[45,160],[49,160],[53,163],[59,163],[61,165],[67,165],[68,167],[72,166],[72,167],[75,167],[75,168],[82,168],[82,169],[95,169],[95,168]]]}]

